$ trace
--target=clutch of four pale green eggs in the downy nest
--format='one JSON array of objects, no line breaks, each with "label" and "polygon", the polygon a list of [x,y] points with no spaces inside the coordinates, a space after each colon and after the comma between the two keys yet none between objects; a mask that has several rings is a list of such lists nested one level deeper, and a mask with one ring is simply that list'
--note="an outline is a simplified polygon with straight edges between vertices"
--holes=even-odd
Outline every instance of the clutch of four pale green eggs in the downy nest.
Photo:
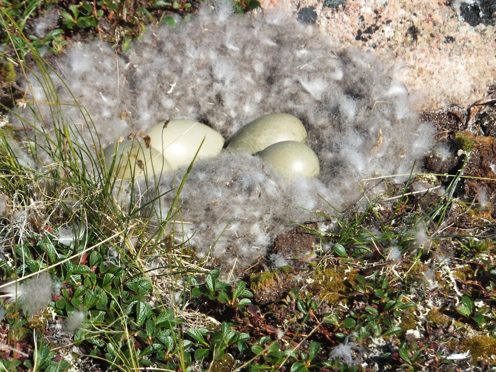
[{"label": "clutch of four pale green eggs in the downy nest", "polygon": [[[104,150],[107,171],[120,179],[159,175],[188,167],[197,158],[214,157],[222,151],[224,138],[194,120],[173,119],[153,126],[145,143],[137,139],[112,144]],[[287,113],[264,115],[234,135],[225,151],[258,155],[289,179],[316,177],[319,158],[306,145],[303,123]]]}]

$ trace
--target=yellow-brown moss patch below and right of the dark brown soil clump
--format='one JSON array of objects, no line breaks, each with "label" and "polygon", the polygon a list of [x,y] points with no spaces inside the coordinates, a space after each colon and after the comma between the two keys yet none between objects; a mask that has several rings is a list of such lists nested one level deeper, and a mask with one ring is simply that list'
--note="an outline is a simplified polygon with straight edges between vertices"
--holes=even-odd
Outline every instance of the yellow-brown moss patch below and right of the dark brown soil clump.
[{"label": "yellow-brown moss patch below and right of the dark brown soil clump", "polygon": [[356,272],[346,272],[344,267],[317,270],[310,276],[308,294],[329,304],[344,303],[357,285]]}]

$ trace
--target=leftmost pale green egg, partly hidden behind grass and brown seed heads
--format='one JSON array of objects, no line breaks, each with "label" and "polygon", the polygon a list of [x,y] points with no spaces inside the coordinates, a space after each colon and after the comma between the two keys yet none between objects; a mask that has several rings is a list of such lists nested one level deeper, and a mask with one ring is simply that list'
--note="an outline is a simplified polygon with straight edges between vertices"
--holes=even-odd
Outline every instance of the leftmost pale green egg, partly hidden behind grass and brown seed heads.
[{"label": "leftmost pale green egg, partly hidden behind grass and brown seed heads", "polygon": [[136,179],[139,176],[151,176],[171,170],[169,162],[162,152],[148,147],[138,141],[122,141],[119,144],[107,146],[103,151],[107,171],[115,163],[112,173],[120,179]]}]

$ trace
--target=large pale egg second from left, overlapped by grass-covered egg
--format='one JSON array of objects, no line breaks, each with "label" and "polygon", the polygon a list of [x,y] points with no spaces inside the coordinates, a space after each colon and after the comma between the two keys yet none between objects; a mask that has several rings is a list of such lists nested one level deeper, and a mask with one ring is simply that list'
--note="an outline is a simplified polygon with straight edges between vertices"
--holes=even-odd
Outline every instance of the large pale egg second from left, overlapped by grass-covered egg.
[{"label": "large pale egg second from left, overlapped by grass-covered egg", "polygon": [[[224,146],[224,137],[194,120],[174,119],[161,122],[147,134],[150,137],[150,146],[163,152],[172,169],[190,165],[200,145],[199,158],[215,156]],[[204,138],[205,142],[201,144]]]}]

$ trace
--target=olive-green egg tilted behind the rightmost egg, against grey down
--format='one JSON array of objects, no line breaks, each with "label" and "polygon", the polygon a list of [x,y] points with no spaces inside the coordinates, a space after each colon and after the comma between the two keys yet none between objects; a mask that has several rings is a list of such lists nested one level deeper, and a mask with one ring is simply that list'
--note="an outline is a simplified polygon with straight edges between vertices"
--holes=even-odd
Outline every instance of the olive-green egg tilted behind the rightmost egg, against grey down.
[{"label": "olive-green egg tilted behind the rightmost egg, against grey down", "polygon": [[277,142],[306,139],[307,131],[300,119],[288,113],[270,113],[241,128],[228,148],[254,154]]}]

